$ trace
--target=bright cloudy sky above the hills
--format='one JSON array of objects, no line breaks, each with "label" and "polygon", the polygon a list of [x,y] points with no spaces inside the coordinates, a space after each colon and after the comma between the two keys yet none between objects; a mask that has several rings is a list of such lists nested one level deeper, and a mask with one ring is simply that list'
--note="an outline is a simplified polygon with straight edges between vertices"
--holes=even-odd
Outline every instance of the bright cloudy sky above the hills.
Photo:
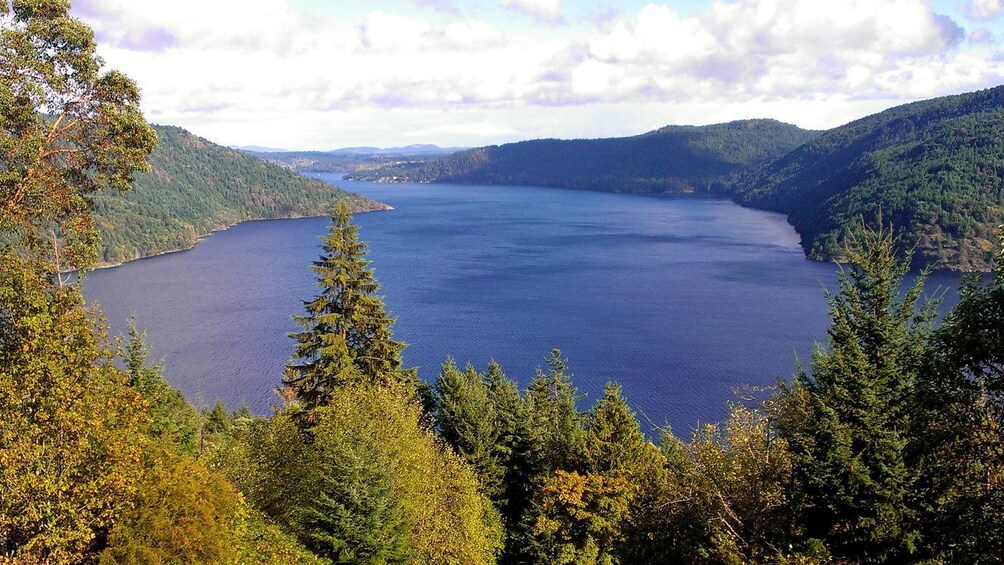
[{"label": "bright cloudy sky above the hills", "polygon": [[155,123],[327,151],[829,128],[1004,83],[1004,0],[72,0]]}]

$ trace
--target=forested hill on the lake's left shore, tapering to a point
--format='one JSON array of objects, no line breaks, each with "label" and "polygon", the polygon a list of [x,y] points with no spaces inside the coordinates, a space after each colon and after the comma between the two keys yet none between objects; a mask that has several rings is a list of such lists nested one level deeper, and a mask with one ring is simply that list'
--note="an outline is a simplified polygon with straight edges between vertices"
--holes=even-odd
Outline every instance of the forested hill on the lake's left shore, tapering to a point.
[{"label": "forested hill on the lake's left shore, tapering to a point", "polygon": [[93,199],[104,263],[187,249],[245,220],[324,215],[339,199],[355,212],[387,208],[180,127],[155,129],[152,172],[128,192]]}]

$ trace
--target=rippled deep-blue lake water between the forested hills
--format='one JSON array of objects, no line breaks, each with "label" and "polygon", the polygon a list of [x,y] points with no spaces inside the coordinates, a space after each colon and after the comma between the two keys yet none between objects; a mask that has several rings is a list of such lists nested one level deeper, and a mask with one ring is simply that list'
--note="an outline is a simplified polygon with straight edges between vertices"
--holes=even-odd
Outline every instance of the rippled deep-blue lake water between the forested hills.
[{"label": "rippled deep-blue lake water between the forested hills", "polygon": [[[319,176],[331,180],[336,176]],[[521,384],[558,347],[585,407],[615,380],[643,421],[717,421],[741,385],[770,385],[828,327],[833,265],[808,261],[782,216],[724,199],[527,187],[339,186],[386,202],[355,217],[405,360],[434,380],[447,354],[498,360]],[[197,405],[265,413],[292,351],[291,314],[325,218],[249,222],[194,249],[90,273],[121,333],[131,313]],[[958,277],[936,273],[929,288]]]}]

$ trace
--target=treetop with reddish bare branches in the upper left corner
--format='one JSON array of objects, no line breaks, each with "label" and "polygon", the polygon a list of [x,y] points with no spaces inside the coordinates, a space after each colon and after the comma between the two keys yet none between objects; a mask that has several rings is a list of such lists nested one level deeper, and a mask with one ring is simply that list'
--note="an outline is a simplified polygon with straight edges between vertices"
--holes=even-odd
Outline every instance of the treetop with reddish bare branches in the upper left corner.
[{"label": "treetop with reddish bare branches in the upper left corner", "polygon": [[88,197],[126,190],[157,136],[140,90],[102,71],[94,34],[67,0],[3,2],[0,21],[0,242],[54,270],[95,259]]}]

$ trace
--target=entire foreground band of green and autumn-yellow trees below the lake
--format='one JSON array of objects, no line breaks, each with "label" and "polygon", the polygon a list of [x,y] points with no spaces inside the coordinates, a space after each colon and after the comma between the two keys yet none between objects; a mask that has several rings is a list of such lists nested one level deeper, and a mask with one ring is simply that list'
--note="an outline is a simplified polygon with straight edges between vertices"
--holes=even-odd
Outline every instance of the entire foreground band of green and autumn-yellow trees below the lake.
[{"label": "entire foreground band of green and autumn-yellow trees below the lake", "polygon": [[197,412],[148,363],[143,333],[110,338],[60,275],[97,261],[87,197],[129,187],[155,138],[135,84],[100,72],[67,8],[0,3],[0,560],[1004,555],[1000,248],[995,278],[967,279],[935,327],[923,280],[899,290],[895,238],[862,230],[809,370],[657,444],[613,383],[581,408],[559,351],[522,390],[495,363],[449,359],[434,384],[418,381],[342,202],[276,375],[280,405]]}]

